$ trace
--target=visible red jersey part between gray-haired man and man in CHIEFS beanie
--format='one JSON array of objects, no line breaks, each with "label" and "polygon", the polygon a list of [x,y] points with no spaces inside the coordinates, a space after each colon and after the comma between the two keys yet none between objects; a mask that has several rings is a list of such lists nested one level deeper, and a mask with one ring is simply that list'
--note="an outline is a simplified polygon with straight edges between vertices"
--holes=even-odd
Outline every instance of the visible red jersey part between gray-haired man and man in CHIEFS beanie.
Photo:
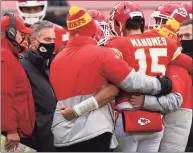
[{"label": "visible red jersey part between gray-haired man and man in CHIEFS beanie", "polygon": [[69,35],[67,30],[59,25],[55,25],[55,35],[56,40],[54,54],[57,54],[62,46],[66,46]]}]

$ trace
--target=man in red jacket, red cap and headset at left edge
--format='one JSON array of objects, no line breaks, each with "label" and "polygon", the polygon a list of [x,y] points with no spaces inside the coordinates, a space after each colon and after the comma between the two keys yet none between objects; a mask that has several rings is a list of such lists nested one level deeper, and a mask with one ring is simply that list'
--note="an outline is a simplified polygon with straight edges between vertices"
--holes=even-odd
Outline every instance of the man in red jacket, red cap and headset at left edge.
[{"label": "man in red jacket, red cap and headset at left edge", "polygon": [[24,51],[26,34],[33,32],[21,19],[7,12],[1,18],[1,134],[7,137],[6,151],[17,149],[18,143],[30,137],[34,129],[35,109],[32,91],[19,63],[18,55]]}]

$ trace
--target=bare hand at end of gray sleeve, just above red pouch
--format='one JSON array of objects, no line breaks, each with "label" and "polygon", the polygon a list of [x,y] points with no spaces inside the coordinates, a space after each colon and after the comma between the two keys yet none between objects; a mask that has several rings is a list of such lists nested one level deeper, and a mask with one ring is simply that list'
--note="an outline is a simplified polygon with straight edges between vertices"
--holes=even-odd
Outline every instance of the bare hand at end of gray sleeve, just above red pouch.
[{"label": "bare hand at end of gray sleeve, just above red pouch", "polygon": [[144,104],[145,95],[132,95],[129,102],[133,108],[142,108]]}]

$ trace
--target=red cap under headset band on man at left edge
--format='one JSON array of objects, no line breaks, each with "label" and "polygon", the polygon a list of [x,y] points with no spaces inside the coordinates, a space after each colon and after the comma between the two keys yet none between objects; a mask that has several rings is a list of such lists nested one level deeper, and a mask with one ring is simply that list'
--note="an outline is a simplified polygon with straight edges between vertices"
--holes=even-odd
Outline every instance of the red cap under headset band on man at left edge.
[{"label": "red cap under headset band on man at left edge", "polygon": [[[26,34],[30,34],[33,32],[33,29],[27,28],[25,26],[25,24],[19,18],[19,16],[14,15],[14,17],[15,17],[16,30],[23,32],[23,33],[26,33]],[[2,18],[1,18],[1,32],[5,32],[9,26],[9,24],[10,24],[10,17],[9,16],[2,16]]]}]

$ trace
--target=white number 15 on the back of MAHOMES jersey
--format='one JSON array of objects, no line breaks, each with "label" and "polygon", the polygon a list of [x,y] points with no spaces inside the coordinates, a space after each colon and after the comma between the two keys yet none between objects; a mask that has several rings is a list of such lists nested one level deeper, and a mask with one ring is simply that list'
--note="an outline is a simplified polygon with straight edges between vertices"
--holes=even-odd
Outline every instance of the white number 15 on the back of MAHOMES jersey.
[{"label": "white number 15 on the back of MAHOMES jersey", "polygon": [[165,75],[166,66],[159,64],[159,57],[167,56],[167,48],[150,48],[149,53],[151,56],[151,65],[147,64],[147,56],[143,48],[139,48],[135,52],[135,59],[138,60],[139,72],[147,73],[147,68],[151,68],[152,73],[161,73]]}]

